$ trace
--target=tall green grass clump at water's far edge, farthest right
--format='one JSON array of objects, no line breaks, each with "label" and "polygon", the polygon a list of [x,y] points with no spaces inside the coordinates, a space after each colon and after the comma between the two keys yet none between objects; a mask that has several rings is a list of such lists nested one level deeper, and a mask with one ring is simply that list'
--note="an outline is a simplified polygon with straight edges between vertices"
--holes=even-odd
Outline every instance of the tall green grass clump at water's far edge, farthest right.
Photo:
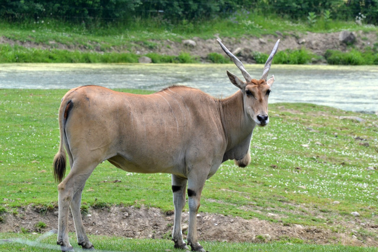
[{"label": "tall green grass clump at water's far edge, farthest right", "polygon": [[330,65],[378,65],[378,53],[356,51],[325,51],[324,58]]}]

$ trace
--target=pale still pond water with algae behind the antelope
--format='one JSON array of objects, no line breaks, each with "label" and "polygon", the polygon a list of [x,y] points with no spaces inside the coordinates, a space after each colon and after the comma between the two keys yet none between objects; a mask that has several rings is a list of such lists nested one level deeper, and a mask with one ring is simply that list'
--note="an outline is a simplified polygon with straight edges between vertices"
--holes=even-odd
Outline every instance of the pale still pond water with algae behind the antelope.
[{"label": "pale still pond water with algae behind the antelope", "polygon": [[[263,65],[245,65],[259,79]],[[179,84],[215,97],[238,89],[226,70],[243,78],[232,64],[0,64],[0,89],[71,89],[95,84],[111,89],[158,91]],[[377,66],[272,65],[270,103],[304,102],[344,110],[378,112]]]}]

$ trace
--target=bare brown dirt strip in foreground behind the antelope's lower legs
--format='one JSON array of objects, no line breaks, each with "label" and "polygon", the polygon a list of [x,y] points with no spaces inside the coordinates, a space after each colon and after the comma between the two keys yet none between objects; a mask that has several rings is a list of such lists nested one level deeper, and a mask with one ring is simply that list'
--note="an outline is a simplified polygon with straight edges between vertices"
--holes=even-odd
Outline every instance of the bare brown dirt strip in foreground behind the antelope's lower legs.
[{"label": "bare brown dirt strip in foreground behind the antelope's lower legs", "polygon": [[[58,215],[56,211],[39,213],[40,209],[32,207],[20,208],[19,214],[7,213],[5,222],[0,224],[0,232],[46,232],[57,229]],[[90,208],[90,215],[83,215],[85,230],[88,234],[115,235],[129,238],[163,238],[170,239],[174,222],[173,212],[161,212],[158,208],[135,208],[113,206],[106,209]],[[274,217],[274,216],[273,216]],[[279,217],[279,216],[278,216]],[[277,217],[277,218],[278,218]],[[189,213],[183,212],[183,232],[187,229]],[[46,224],[43,230],[37,230],[36,223]],[[282,222],[266,220],[242,219],[240,217],[220,214],[198,213],[197,230],[200,240],[228,242],[267,242],[277,240],[300,239],[314,244],[344,244],[353,246],[378,246],[375,236],[359,235],[375,233],[378,226],[365,221],[345,221],[333,223],[332,226],[342,226],[343,231],[333,231],[330,228],[319,228],[302,225],[285,225]],[[72,217],[69,218],[69,231],[74,232]]]}]

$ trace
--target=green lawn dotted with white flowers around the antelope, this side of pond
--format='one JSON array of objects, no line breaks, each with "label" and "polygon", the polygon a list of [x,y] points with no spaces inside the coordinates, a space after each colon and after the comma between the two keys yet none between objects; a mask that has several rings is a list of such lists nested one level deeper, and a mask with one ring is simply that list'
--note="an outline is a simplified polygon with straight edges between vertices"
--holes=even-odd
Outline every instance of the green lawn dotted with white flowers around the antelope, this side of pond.
[{"label": "green lawn dotted with white flowers around the antelope, this side of pond", "polygon": [[[5,213],[17,215],[17,208],[30,204],[56,209],[57,190],[51,163],[59,145],[57,112],[65,92],[67,90],[0,90],[0,195],[3,198],[0,222],[6,221]],[[223,163],[206,182],[200,212],[245,219],[256,217],[340,233],[345,232],[345,227],[339,224],[342,222],[378,225],[375,146],[378,146],[377,115],[313,104],[271,104],[270,124],[255,129],[251,164],[239,168],[231,161]],[[122,182],[102,183],[117,179]],[[108,162],[102,163],[87,181],[82,205],[88,208],[114,204],[173,210],[170,175],[127,173]],[[351,212],[358,212],[360,216],[356,218]],[[378,240],[377,233],[368,232],[364,226],[355,231],[360,241]],[[2,233],[0,239],[10,236],[31,237]],[[54,235],[51,240],[55,238]],[[95,239],[107,244],[98,249],[138,251],[133,247],[124,248],[120,238]],[[154,240],[133,240],[132,243],[130,246],[141,243],[151,247],[144,251],[164,251],[153,249],[158,246]],[[211,251],[229,251],[229,248],[222,250],[227,246],[234,246],[235,251],[245,250],[245,245],[239,243],[205,244]],[[0,250],[8,245],[0,244]],[[280,243],[261,244],[256,250],[254,246],[257,245],[249,244],[251,250],[247,251],[287,251],[287,246]],[[315,245],[295,245],[290,250],[368,251],[358,247],[345,250],[341,246]]]}]

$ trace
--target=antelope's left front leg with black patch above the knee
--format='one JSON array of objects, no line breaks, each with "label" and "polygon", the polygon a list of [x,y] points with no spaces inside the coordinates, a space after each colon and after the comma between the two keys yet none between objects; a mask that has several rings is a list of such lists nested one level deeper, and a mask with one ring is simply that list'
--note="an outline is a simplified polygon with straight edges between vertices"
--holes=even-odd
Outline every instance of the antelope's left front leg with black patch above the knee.
[{"label": "antelope's left front leg with black patch above the knee", "polygon": [[172,241],[175,242],[175,249],[189,249],[184,240],[181,230],[181,214],[186,201],[186,179],[182,179],[172,174],[173,204],[175,206],[175,222],[173,226]]}]

